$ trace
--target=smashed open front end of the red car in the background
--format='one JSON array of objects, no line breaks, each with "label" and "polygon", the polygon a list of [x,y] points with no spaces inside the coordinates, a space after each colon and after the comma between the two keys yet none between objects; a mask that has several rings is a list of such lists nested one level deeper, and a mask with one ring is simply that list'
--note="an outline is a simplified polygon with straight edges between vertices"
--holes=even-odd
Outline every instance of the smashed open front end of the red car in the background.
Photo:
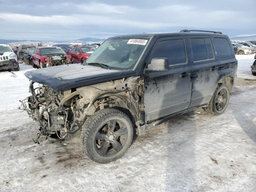
[{"label": "smashed open front end of the red car in the background", "polygon": [[68,55],[46,55],[44,56],[45,60],[45,66],[51,67],[51,66],[58,66],[58,65],[65,65],[65,64],[71,64],[72,58]]}]

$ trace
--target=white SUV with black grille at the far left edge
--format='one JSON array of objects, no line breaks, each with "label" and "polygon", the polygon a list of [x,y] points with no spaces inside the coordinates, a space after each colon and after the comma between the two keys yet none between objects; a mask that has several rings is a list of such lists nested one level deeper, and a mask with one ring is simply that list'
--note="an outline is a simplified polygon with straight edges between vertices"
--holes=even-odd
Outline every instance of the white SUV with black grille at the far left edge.
[{"label": "white SUV with black grille at the far left edge", "polygon": [[18,58],[12,48],[6,44],[0,44],[0,70],[14,69],[19,71]]}]

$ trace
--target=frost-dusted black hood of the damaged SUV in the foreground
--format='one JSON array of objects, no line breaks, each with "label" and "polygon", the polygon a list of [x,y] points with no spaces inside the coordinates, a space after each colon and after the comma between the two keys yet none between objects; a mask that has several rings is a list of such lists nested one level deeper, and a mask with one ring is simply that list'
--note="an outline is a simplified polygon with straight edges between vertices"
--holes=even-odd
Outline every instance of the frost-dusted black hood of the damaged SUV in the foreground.
[{"label": "frost-dusted black hood of the damaged SUV in the foreground", "polygon": [[96,66],[68,64],[32,70],[25,73],[30,80],[48,85],[55,91],[102,83],[134,76],[131,70],[108,70]]}]

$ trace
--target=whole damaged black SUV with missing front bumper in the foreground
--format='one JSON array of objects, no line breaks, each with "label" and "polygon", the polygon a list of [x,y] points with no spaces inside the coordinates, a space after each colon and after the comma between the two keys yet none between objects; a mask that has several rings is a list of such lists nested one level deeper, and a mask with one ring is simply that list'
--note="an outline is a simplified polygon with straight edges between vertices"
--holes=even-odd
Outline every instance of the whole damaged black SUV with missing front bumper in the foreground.
[{"label": "whole damaged black SUV with missing front bumper in the foreground", "polygon": [[237,64],[221,32],[115,36],[83,64],[26,72],[32,95],[22,108],[39,124],[36,143],[41,135],[80,133],[84,153],[108,163],[126,152],[134,132],[200,107],[222,114]]}]

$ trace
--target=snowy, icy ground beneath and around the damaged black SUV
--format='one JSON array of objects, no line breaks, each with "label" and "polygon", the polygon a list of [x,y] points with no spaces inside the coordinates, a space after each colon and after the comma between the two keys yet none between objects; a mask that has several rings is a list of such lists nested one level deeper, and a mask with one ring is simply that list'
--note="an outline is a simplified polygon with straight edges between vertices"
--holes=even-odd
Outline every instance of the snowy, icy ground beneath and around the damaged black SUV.
[{"label": "snowy, icy ground beneath and around the damaged black SUV", "polygon": [[40,138],[19,111],[29,95],[24,72],[0,72],[0,192],[4,191],[256,191],[256,77],[254,55],[240,55],[238,81],[226,112],[197,110],[136,138],[126,154],[98,164],[82,154],[80,139]]}]

